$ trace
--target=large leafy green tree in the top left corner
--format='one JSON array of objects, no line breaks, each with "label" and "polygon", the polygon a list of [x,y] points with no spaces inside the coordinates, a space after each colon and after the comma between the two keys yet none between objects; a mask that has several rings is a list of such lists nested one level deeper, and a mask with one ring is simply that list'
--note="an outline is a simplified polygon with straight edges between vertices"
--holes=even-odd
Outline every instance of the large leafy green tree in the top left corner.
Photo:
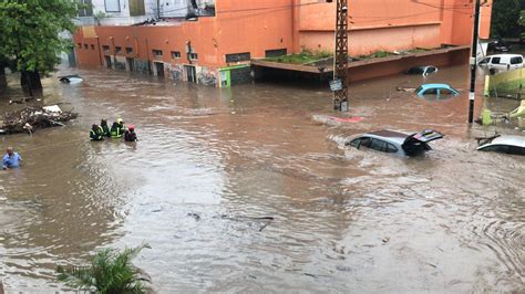
[{"label": "large leafy green tree in the top left corner", "polygon": [[61,34],[74,31],[78,8],[71,0],[0,0],[0,59],[17,62],[22,85],[41,88],[40,75],[71,48]]}]

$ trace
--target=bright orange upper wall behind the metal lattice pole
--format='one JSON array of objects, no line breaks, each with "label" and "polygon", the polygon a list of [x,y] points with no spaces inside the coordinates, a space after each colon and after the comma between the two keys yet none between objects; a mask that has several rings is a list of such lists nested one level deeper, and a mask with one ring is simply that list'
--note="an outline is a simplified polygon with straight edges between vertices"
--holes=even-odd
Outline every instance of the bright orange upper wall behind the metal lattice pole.
[{"label": "bright orange upper wall behind the metal lattice pole", "polygon": [[[465,45],[472,40],[473,0],[349,1],[349,53]],[[336,1],[295,0],[295,51],[333,51]],[[482,8],[481,38],[488,38],[492,1]]]}]

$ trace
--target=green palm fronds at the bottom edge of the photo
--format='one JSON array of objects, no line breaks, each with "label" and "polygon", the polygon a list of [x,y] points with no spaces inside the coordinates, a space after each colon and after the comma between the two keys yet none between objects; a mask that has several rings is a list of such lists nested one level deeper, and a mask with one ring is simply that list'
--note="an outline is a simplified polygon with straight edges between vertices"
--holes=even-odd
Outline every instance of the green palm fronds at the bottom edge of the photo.
[{"label": "green palm fronds at the bottom edge of the photo", "polygon": [[91,259],[90,266],[58,266],[58,279],[66,286],[80,291],[101,294],[145,293],[144,281],[140,270],[131,260],[148,244],[137,248],[125,248],[123,251],[103,249]]}]

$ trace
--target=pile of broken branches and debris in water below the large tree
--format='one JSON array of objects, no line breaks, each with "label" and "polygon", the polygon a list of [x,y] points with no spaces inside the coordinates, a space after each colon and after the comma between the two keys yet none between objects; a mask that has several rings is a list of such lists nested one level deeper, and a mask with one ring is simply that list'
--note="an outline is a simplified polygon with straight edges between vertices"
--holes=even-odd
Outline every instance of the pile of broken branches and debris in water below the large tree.
[{"label": "pile of broken branches and debris in water below the large tree", "polygon": [[31,134],[38,128],[64,126],[64,122],[74,119],[78,115],[71,112],[49,112],[42,107],[25,107],[3,115],[0,134]]}]

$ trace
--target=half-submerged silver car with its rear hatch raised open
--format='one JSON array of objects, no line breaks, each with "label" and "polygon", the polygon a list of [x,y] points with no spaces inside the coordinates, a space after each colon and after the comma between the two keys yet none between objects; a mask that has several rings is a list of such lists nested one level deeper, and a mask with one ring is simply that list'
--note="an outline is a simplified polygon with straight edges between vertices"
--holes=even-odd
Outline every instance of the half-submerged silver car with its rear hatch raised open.
[{"label": "half-submerged silver car with its rear hatch raised open", "polygon": [[378,130],[360,135],[347,143],[346,146],[357,149],[368,148],[397,156],[415,156],[432,150],[428,143],[441,138],[443,138],[443,134],[433,129],[413,134]]}]

